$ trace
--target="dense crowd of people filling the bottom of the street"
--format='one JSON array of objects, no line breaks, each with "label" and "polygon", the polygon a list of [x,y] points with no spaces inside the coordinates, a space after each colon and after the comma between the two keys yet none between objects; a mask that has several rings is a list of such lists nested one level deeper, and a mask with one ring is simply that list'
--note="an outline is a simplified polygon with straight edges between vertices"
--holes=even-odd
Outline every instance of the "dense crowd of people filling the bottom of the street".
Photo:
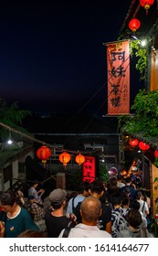
[{"label": "dense crowd of people filling the bottom of the street", "polygon": [[0,237],[24,238],[146,238],[149,232],[150,197],[130,176],[111,176],[106,186],[99,179],[82,182],[70,198],[54,189],[49,206],[37,181],[28,189],[25,204],[21,191],[0,196]]}]

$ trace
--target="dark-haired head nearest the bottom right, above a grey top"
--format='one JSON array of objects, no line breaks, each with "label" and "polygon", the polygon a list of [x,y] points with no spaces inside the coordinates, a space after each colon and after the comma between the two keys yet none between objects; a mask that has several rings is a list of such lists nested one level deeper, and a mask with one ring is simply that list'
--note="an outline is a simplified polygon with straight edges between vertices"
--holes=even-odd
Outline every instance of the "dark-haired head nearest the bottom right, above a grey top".
[{"label": "dark-haired head nearest the bottom right, above a grey top", "polygon": [[125,216],[128,224],[132,226],[133,229],[139,229],[142,223],[142,216],[139,210],[132,208]]}]

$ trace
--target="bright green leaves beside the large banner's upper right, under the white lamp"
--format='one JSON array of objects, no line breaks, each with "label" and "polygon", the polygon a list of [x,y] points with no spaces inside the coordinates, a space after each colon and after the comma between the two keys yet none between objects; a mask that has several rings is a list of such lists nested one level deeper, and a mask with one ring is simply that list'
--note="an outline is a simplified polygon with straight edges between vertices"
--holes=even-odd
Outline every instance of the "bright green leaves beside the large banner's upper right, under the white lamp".
[{"label": "bright green leaves beside the large banner's upper right, under the white lamp", "polygon": [[140,72],[140,80],[146,80],[147,50],[141,48],[140,40],[130,42],[130,54],[138,59],[135,68]]}]

